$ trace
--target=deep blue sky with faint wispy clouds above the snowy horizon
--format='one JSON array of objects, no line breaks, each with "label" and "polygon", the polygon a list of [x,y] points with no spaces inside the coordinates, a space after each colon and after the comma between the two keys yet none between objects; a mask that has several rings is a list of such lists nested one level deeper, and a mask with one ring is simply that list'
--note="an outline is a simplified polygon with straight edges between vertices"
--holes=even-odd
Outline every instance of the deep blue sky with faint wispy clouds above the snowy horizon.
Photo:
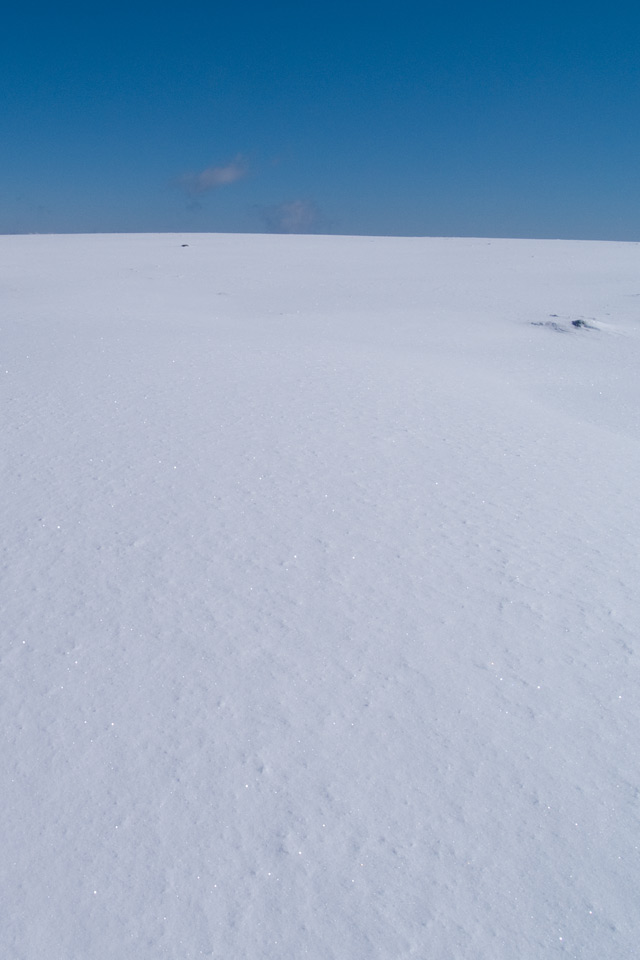
[{"label": "deep blue sky with faint wispy clouds above the snowy horizon", "polygon": [[640,7],[11,4],[0,232],[640,240]]}]

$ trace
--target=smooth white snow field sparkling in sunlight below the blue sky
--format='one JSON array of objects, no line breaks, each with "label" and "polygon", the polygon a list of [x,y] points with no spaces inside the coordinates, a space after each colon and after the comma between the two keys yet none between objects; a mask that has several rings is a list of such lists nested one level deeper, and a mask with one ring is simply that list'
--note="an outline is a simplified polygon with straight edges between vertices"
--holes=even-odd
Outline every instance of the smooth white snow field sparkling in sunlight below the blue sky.
[{"label": "smooth white snow field sparkling in sunlight below the blue sky", "polygon": [[637,956],[640,246],[0,262],[0,955]]}]

